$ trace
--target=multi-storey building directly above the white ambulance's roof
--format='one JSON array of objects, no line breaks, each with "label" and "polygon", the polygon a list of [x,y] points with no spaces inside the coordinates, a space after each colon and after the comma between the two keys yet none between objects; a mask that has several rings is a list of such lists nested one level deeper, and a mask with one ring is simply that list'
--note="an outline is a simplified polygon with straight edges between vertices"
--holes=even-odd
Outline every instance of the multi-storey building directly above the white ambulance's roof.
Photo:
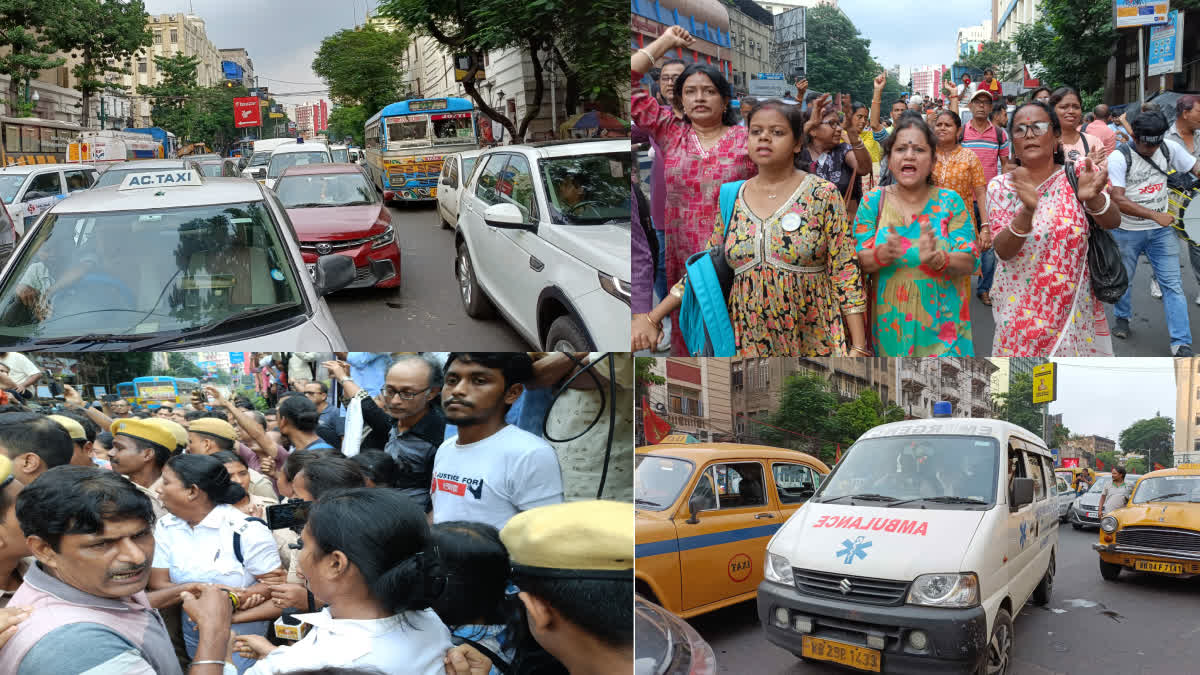
[{"label": "multi-storey building directly above the white ambulance's roof", "polygon": [[900,407],[908,417],[931,417],[937,401],[949,401],[954,417],[991,416],[991,375],[996,365],[990,360],[964,357],[896,360]]}]

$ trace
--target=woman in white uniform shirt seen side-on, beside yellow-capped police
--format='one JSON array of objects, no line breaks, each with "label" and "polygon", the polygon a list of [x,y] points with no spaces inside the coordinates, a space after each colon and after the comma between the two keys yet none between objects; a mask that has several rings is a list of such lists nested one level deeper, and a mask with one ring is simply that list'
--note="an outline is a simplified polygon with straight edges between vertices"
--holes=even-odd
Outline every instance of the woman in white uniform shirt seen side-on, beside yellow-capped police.
[{"label": "woman in white uniform shirt seen side-on, beside yellow-capped police", "polygon": [[[155,524],[150,589],[192,581],[245,589],[238,598],[241,611],[252,608],[246,602],[251,596],[258,596],[259,603],[270,597],[259,580],[283,573],[275,538],[265,522],[234,508],[246,497],[246,490],[229,479],[220,460],[191,454],[170,458],[162,471],[158,495],[168,515]],[[264,635],[269,623],[266,619],[234,623],[233,631]],[[194,656],[197,639],[196,626],[185,617],[188,656]],[[234,656],[239,673],[251,664]]]}]

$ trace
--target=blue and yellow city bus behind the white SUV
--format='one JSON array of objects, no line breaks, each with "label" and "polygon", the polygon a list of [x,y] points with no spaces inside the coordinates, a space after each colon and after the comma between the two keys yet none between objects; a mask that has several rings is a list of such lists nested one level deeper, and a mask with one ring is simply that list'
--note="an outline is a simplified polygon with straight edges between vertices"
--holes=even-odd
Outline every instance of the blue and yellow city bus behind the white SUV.
[{"label": "blue and yellow city bus behind the white SUV", "polygon": [[414,98],[386,106],[366,123],[367,173],[384,201],[438,197],[442,159],[479,147],[478,112],[468,98]]}]

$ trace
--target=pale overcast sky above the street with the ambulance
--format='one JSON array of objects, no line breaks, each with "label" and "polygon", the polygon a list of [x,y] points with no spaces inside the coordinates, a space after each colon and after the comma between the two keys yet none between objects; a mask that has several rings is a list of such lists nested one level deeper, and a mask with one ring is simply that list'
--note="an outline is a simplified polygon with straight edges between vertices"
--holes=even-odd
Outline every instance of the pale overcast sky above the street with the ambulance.
[{"label": "pale overcast sky above the street with the ambulance", "polygon": [[1170,358],[1054,359],[1058,364],[1058,400],[1072,434],[1114,441],[1127,426],[1154,417],[1175,417],[1175,366]]}]

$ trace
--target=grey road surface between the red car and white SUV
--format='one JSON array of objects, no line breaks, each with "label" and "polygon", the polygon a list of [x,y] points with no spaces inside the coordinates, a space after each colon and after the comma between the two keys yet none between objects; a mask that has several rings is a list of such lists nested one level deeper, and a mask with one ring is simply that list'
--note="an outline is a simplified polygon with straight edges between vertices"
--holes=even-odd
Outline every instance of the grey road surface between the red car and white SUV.
[{"label": "grey road surface between the red car and white SUV", "polygon": [[325,298],[356,351],[514,351],[529,345],[503,318],[470,318],[454,275],[454,234],[433,204],[389,207],[401,249],[398,289],[355,288]]}]

